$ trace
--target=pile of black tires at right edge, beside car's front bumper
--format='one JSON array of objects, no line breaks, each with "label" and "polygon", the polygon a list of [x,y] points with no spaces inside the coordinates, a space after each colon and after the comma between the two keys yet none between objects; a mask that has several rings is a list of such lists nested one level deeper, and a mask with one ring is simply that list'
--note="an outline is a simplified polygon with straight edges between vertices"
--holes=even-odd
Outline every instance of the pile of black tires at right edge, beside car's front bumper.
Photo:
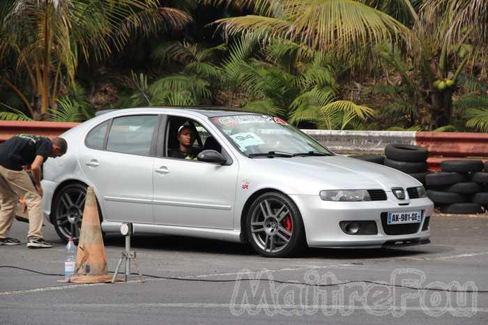
[{"label": "pile of black tires at right edge, beside car's front bumper", "polygon": [[442,213],[483,213],[488,206],[488,163],[445,160],[441,172],[428,174],[427,196]]}]

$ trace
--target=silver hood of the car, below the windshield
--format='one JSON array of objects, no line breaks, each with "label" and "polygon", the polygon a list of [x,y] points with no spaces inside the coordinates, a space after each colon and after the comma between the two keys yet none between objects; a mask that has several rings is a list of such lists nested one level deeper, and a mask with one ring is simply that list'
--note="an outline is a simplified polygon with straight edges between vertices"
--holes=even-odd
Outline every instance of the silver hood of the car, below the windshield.
[{"label": "silver hood of the car, below the windshield", "polygon": [[[396,169],[346,156],[254,158],[267,175],[280,175],[289,194],[317,194],[320,190],[382,189],[422,186],[413,177]],[[261,169],[264,167],[264,169]],[[276,179],[274,179],[276,181]]]}]

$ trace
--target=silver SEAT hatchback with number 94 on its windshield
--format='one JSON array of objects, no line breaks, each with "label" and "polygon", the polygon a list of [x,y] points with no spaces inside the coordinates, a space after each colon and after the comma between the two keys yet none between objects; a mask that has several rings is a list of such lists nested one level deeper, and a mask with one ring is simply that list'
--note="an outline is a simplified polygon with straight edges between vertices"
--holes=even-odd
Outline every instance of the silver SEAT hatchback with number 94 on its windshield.
[{"label": "silver SEAT hatchback with number 94 on its windshield", "polygon": [[267,257],[429,243],[434,206],[421,183],[330,152],[274,116],[119,109],[62,137],[68,152],[44,166],[43,211],[63,240],[79,236],[93,186],[107,233],[132,222],[136,234],[251,243]]}]

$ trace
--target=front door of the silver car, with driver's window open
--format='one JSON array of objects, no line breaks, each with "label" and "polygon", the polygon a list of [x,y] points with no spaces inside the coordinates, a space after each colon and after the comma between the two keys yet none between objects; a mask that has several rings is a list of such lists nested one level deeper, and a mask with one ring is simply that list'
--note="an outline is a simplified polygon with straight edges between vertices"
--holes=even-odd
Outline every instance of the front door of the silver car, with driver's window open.
[{"label": "front door of the silver car, with driver's window open", "polygon": [[[167,137],[172,133],[172,119],[162,125],[166,136],[165,144],[171,143]],[[181,117],[179,118],[181,120]],[[198,125],[201,139],[214,137],[208,133],[208,126],[201,121],[188,119]],[[201,140],[199,143],[202,143]],[[238,163],[234,160],[230,165],[216,165],[197,160],[169,158],[167,145],[160,157],[154,160],[154,220],[159,225],[187,227],[205,227],[215,229],[232,229],[234,227],[234,201]],[[223,148],[225,155],[227,151]],[[230,156],[229,156],[230,158]]]}]

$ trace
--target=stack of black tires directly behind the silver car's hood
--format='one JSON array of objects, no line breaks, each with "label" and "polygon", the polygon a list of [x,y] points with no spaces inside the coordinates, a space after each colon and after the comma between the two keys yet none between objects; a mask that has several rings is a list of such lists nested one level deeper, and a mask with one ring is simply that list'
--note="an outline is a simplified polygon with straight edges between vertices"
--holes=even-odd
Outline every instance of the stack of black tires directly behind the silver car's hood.
[{"label": "stack of black tires directly behind the silver car's hood", "polygon": [[429,151],[422,146],[412,144],[388,144],[385,148],[384,164],[409,174],[425,185],[427,157]]}]

